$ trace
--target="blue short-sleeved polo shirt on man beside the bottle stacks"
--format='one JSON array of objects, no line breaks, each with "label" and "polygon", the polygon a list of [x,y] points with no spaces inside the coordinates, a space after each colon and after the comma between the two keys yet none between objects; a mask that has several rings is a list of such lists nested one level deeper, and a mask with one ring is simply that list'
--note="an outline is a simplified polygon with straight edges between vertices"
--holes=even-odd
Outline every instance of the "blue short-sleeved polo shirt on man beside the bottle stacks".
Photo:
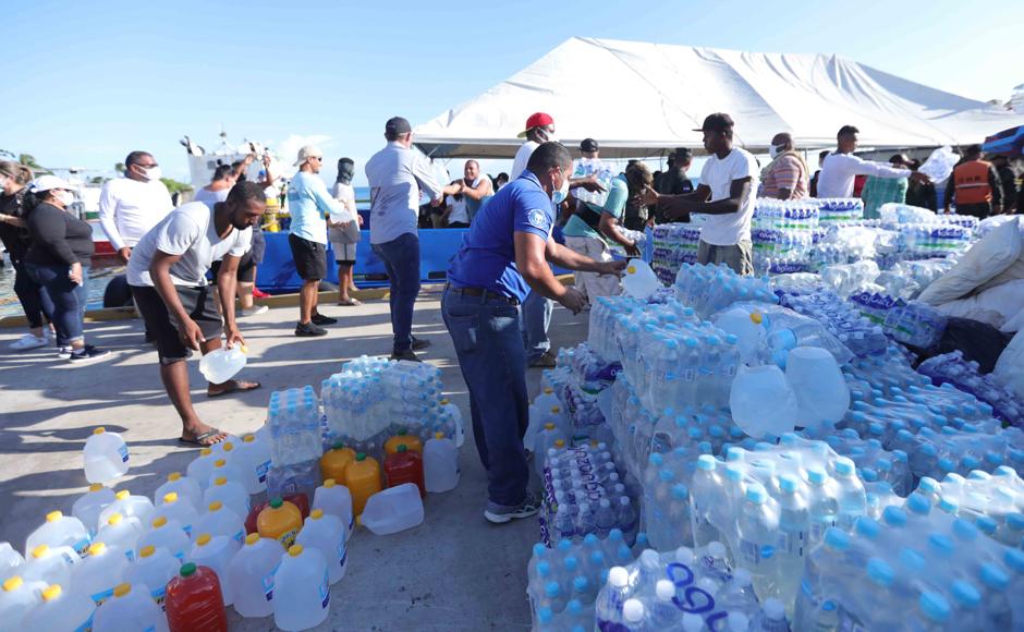
[{"label": "blue short-sleeved polo shirt on man beside the bottle stacks", "polygon": [[448,281],[455,288],[484,288],[522,302],[529,285],[515,268],[513,233],[547,241],[554,205],[531,171],[502,186],[477,214],[462,247],[452,257]]}]

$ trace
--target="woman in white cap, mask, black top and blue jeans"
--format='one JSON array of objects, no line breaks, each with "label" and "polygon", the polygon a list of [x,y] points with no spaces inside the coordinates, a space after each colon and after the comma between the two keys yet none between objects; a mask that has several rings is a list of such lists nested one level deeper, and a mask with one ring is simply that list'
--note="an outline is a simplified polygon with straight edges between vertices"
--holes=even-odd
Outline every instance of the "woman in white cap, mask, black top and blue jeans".
[{"label": "woman in white cap, mask, black top and blue jeans", "polygon": [[53,301],[59,354],[72,364],[106,357],[109,351],[85,343],[89,264],[96,250],[93,228],[71,214],[75,197],[63,179],[40,175],[31,193],[26,207],[32,246],[25,267]]}]

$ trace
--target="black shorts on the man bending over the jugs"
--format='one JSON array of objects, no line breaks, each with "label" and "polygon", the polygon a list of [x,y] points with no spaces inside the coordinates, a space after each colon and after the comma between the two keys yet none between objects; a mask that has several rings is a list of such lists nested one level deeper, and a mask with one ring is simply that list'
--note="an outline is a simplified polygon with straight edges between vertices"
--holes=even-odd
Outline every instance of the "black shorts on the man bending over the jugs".
[{"label": "black shorts on the man bending over the jugs", "polygon": [[[207,340],[218,338],[224,326],[214,301],[212,285],[174,285],[174,289],[178,290],[178,299],[185,313],[199,326],[203,336]],[[173,364],[191,356],[192,350],[178,337],[178,320],[168,311],[156,288],[132,285],[132,296],[146,321],[146,330],[156,337],[160,364]]]}]

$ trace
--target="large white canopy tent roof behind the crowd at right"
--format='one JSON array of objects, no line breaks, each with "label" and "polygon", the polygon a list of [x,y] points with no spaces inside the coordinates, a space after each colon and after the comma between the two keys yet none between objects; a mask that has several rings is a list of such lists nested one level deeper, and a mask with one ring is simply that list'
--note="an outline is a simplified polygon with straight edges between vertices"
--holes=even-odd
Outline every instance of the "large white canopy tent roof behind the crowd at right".
[{"label": "large white canopy tent roof behind the crowd at right", "polygon": [[863,146],[982,143],[1024,124],[1013,113],[829,54],[744,52],[574,37],[484,94],[414,130],[439,157],[508,158],[526,118],[554,118],[566,146],[596,138],[602,157],[702,148],[692,132],[728,112],[735,138],[763,149],[790,132],[803,149],[831,147],[845,124]]}]

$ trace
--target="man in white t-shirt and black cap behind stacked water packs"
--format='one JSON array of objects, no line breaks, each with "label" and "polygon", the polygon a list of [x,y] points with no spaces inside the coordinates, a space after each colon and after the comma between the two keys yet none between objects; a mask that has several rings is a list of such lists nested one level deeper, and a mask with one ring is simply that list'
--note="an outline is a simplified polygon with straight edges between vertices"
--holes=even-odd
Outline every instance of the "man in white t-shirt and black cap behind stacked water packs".
[{"label": "man in white t-shirt and black cap behind stacked water packs", "polygon": [[669,221],[690,221],[703,214],[697,263],[726,264],[737,275],[754,272],[751,218],[760,170],[754,155],[732,146],[732,117],[717,112],[695,132],[704,132],[707,162],[693,193],[659,195],[648,187],[645,202],[657,204]]}]

